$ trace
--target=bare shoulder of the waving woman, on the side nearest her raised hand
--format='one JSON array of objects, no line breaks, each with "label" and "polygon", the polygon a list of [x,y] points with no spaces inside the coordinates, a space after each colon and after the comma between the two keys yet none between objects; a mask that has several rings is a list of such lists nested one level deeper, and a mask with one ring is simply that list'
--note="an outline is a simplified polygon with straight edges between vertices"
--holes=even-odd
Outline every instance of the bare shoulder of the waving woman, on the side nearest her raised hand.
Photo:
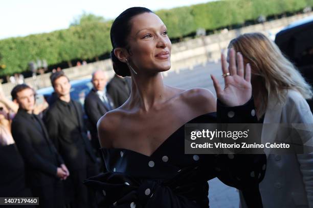
[{"label": "bare shoulder of the waving woman, on the side nearest her raised hand", "polygon": [[216,111],[216,97],[205,88],[192,88],[182,93],[182,98],[192,108],[200,112],[211,113]]}]

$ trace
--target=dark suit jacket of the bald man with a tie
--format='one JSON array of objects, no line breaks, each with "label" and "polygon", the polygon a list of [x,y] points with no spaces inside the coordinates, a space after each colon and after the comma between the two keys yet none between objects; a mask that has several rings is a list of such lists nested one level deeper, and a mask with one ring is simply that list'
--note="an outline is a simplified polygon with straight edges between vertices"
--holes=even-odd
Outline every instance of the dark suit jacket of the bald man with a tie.
[{"label": "dark suit jacket of the bald man with a tie", "polygon": [[[110,103],[113,103],[108,93],[106,93],[106,97]],[[110,105],[110,107],[104,105],[95,89],[92,89],[85,98],[84,109],[88,117],[88,120],[91,124],[90,132],[92,135],[92,141],[95,148],[100,147],[98,141],[97,122],[106,112],[114,108],[115,108],[114,105]]]}]

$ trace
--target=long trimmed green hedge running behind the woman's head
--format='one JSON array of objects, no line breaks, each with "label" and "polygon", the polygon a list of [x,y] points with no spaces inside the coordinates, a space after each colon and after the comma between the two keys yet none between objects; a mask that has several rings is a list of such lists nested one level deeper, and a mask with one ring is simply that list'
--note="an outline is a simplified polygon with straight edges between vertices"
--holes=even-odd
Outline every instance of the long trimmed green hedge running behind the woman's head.
[{"label": "long trimmed green hedge running behind the woman's head", "polygon": [[[313,6],[313,0],[228,0],[159,10],[170,38],[194,34],[198,28],[216,30],[255,20],[260,15],[294,13]],[[23,72],[30,61],[46,59],[55,65],[74,59],[93,59],[111,50],[112,21],[84,23],[66,30],[0,40],[0,75]]]}]

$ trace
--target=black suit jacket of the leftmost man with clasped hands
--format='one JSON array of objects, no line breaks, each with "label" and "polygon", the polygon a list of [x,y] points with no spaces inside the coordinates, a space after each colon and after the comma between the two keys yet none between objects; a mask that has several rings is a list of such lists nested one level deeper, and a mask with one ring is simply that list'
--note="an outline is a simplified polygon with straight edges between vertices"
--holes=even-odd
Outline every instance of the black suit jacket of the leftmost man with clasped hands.
[{"label": "black suit jacket of the leftmost man with clasped hands", "polygon": [[34,116],[42,131],[36,127],[31,114],[19,109],[12,121],[12,136],[25,161],[27,185],[43,186],[58,180],[57,167],[64,162],[50,141],[43,122]]}]

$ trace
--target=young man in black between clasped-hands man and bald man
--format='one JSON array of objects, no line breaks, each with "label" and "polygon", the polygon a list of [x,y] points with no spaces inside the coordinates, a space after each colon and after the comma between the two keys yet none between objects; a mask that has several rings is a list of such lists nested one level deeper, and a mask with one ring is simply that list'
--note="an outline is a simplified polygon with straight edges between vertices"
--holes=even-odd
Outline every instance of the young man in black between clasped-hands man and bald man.
[{"label": "young man in black between clasped-hands man and bald man", "polygon": [[50,139],[63,157],[71,175],[65,181],[66,203],[72,207],[91,207],[88,191],[82,181],[98,173],[97,159],[87,139],[83,111],[79,102],[71,99],[71,84],[63,72],[51,76],[58,99],[48,109],[44,121]]}]

